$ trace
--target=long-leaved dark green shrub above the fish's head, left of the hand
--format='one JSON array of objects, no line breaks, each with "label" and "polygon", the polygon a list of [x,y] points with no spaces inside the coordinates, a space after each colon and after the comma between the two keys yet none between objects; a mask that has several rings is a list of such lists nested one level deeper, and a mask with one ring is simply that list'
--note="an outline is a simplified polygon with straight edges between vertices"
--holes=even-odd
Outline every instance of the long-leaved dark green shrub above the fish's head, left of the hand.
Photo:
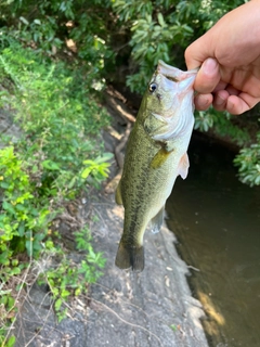
[{"label": "long-leaved dark green shrub above the fish's head, left of the hand", "polygon": [[[224,13],[244,1],[113,1],[119,23],[131,31],[132,70],[127,83],[143,93],[158,60],[183,66],[183,52]],[[136,72],[138,70],[138,72]]]}]

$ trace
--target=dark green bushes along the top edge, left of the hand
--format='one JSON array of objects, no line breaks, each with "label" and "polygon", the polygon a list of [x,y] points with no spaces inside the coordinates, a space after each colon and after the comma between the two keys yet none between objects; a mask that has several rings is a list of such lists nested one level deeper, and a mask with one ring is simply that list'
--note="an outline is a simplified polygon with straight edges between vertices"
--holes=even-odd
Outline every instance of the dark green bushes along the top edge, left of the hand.
[{"label": "dark green bushes along the top edge, left of the hand", "polygon": [[[16,38],[41,56],[73,54],[106,77],[127,44],[127,83],[142,93],[159,59],[184,67],[185,47],[243,2],[43,0],[36,7],[32,0],[11,0],[1,5],[2,33],[8,34],[2,41]],[[117,39],[123,35],[120,48]]]}]

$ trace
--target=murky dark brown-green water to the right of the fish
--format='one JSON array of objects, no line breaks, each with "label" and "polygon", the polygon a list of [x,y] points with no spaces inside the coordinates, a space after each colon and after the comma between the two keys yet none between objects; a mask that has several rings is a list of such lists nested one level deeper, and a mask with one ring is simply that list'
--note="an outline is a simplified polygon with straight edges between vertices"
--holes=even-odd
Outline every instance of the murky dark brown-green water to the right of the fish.
[{"label": "murky dark brown-green water to the right of the fish", "polygon": [[260,346],[260,189],[238,182],[234,154],[193,138],[190,174],[177,180],[167,223],[191,270],[213,347]]}]

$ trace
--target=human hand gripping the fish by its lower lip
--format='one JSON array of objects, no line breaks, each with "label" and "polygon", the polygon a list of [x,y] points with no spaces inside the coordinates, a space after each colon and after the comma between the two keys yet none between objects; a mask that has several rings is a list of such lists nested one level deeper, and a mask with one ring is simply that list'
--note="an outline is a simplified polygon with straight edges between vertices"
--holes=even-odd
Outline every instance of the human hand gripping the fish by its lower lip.
[{"label": "human hand gripping the fish by its lower lip", "polygon": [[200,66],[194,82],[197,110],[242,114],[260,101],[260,1],[224,15],[185,51],[188,69]]}]

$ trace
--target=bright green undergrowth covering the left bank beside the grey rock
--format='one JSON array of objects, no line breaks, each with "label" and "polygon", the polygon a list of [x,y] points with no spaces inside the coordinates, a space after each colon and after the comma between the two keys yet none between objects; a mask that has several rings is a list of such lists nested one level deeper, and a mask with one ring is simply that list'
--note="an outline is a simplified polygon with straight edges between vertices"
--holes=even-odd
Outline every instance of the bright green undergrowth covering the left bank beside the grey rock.
[{"label": "bright green undergrowth covering the left bank beside the grey rock", "polygon": [[[65,299],[79,273],[82,286],[94,282],[104,265],[86,234],[86,259],[75,269],[56,239],[48,241],[55,234],[52,221],[64,202],[99,188],[108,174],[112,155],[104,153],[100,130],[109,119],[93,97],[93,74],[86,76],[82,68],[77,62],[40,62],[34,51],[14,41],[0,52],[0,78],[8,91],[1,94],[1,106],[15,113],[22,130],[15,141],[2,138],[5,146],[0,150],[0,282],[6,325],[12,317],[6,307],[12,300],[9,281],[27,261],[42,257],[42,249],[52,245],[62,259],[47,275],[55,299]],[[56,292],[58,279],[65,282]],[[1,331],[0,340],[2,336]]]}]

